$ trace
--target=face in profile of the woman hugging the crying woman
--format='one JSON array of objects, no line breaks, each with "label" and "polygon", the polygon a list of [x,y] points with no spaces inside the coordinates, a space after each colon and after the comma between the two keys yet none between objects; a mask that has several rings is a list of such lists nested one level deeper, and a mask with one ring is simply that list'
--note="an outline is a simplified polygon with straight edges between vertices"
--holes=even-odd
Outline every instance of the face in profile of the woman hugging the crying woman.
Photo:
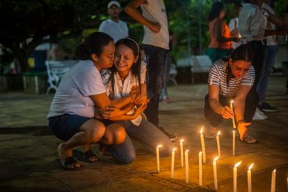
[{"label": "face in profile of the woman hugging the crying woman", "polygon": [[97,68],[106,69],[113,66],[114,63],[115,44],[113,41],[109,42],[102,51],[102,54],[97,57]]}]

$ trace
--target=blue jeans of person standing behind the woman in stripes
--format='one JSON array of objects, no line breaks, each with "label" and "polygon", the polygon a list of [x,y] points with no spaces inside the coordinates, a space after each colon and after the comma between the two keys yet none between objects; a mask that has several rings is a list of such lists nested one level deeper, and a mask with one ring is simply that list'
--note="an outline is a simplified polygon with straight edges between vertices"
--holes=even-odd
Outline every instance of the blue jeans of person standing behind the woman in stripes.
[{"label": "blue jeans of person standing behind the woman in stripes", "polygon": [[277,52],[278,52],[278,45],[267,45],[266,58],[264,61],[264,65],[262,66],[262,73],[257,86],[257,92],[259,94],[259,103],[262,103],[265,100],[268,81]]}]

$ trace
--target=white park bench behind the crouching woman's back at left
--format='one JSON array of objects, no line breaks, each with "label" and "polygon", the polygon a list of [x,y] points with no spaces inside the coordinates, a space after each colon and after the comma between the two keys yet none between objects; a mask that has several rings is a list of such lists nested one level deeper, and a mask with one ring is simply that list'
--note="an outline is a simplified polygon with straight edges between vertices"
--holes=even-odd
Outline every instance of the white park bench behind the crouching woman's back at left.
[{"label": "white park bench behind the crouching woman's back at left", "polygon": [[77,60],[45,61],[48,76],[47,82],[49,83],[46,94],[48,94],[51,89],[57,90],[57,86],[64,74],[77,62]]}]

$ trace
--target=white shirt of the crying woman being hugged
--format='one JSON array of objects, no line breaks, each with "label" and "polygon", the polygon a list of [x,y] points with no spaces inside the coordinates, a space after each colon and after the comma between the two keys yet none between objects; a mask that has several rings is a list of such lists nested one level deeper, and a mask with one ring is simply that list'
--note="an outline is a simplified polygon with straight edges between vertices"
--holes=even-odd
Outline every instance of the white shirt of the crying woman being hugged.
[{"label": "white shirt of the crying woman being hugged", "polygon": [[[141,61],[141,74],[140,74],[141,75],[141,77],[140,77],[141,84],[145,83],[146,71],[147,71],[146,70],[146,63]],[[118,72],[115,72],[114,73],[115,82],[113,85],[112,85],[112,82],[109,81],[109,79],[111,79],[111,71],[110,70],[102,70],[101,75],[102,75],[102,81],[106,87],[106,93],[107,93],[107,95],[109,95],[109,97],[111,99],[119,99],[122,97],[126,97],[131,92],[133,86],[140,86],[138,79],[136,79],[134,74],[132,74],[131,70],[130,70],[127,78],[124,81],[122,81]],[[111,97],[111,95],[113,94],[112,86],[114,88],[114,97]],[[133,114],[134,110],[135,110],[135,108],[132,109],[131,111],[129,111],[127,113],[127,115]],[[140,125],[141,120],[142,120],[142,116],[139,115],[136,119],[131,120],[131,122],[134,125],[138,126],[138,125]]]}]

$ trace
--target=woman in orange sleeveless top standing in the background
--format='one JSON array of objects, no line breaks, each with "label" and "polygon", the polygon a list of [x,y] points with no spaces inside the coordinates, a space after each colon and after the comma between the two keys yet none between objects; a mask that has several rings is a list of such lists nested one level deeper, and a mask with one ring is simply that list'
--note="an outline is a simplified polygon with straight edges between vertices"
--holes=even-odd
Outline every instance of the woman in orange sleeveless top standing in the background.
[{"label": "woman in orange sleeveless top standing in the background", "polygon": [[230,30],[223,21],[224,16],[223,3],[219,1],[213,3],[208,17],[210,43],[207,49],[207,55],[211,58],[212,63],[229,55],[232,51],[232,40],[238,40],[237,37],[231,37]]}]

